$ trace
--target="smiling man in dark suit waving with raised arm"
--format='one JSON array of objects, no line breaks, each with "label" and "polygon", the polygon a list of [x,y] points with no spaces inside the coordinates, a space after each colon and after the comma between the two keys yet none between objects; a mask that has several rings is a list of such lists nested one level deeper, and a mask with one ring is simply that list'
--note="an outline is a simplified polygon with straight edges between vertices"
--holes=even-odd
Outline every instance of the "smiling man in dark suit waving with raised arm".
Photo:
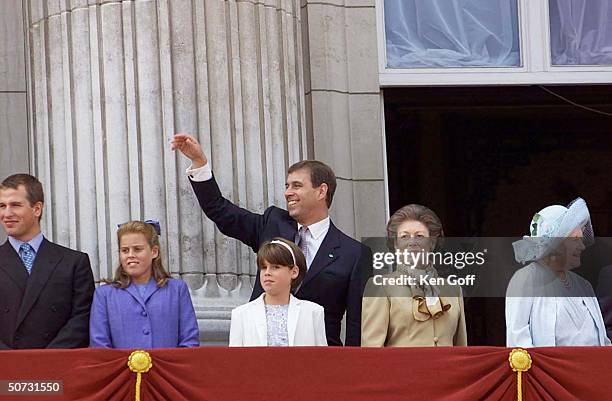
[{"label": "smiling man in dark suit waving with raised arm", "polygon": [[[336,177],[324,163],[302,161],[289,168],[285,190],[287,210],[271,206],[252,213],[225,199],[208,160],[195,138],[177,134],[172,148],[191,160],[187,173],[202,210],[219,230],[257,252],[274,237],[295,241],[306,256],[308,273],[295,296],[325,308],[329,345],[342,345],[340,325],[346,311],[346,345],[360,345],[363,265],[371,252],[340,231],[329,219]],[[251,300],[262,292],[259,271]]]}]

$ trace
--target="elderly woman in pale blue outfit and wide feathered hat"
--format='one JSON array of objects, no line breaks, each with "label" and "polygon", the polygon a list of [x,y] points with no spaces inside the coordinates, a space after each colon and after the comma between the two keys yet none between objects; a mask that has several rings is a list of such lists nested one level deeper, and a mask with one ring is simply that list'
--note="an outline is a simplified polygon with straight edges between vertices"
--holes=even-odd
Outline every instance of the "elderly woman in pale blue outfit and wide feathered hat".
[{"label": "elderly woman in pale blue outfit and wide feathered hat", "polygon": [[517,262],[531,263],[508,285],[507,346],[610,345],[591,284],[570,271],[594,240],[585,201],[542,209],[530,234],[513,244]]}]

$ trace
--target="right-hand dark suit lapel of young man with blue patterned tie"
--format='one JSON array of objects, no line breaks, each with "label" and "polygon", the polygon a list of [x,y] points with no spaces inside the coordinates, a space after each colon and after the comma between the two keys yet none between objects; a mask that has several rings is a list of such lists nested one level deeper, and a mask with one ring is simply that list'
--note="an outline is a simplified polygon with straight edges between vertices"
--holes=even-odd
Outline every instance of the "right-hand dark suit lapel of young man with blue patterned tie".
[{"label": "right-hand dark suit lapel of young man with blue patterned tie", "polygon": [[44,239],[40,244],[40,248],[38,248],[34,266],[32,267],[32,274],[27,279],[27,286],[17,314],[15,327],[19,327],[30,309],[32,309],[40,295],[40,291],[47,284],[49,277],[51,277],[62,258],[62,253],[51,242]]}]

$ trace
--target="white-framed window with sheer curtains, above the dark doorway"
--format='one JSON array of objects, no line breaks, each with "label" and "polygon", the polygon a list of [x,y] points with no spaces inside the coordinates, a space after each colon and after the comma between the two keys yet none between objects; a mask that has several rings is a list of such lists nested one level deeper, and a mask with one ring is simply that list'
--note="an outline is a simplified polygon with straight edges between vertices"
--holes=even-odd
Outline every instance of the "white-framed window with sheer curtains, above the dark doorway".
[{"label": "white-framed window with sheer curtains, above the dark doorway", "polygon": [[612,0],[377,0],[381,86],[612,82]]}]

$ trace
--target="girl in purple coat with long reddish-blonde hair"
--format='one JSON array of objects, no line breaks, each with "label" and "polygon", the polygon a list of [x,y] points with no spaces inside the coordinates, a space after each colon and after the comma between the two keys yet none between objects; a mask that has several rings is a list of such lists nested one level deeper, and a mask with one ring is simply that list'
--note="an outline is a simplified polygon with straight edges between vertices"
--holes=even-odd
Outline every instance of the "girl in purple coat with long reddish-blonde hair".
[{"label": "girl in purple coat with long reddish-blonde hair", "polygon": [[171,348],[199,345],[198,323],[185,282],[164,269],[159,223],[130,221],[119,227],[119,267],[96,289],[89,323],[90,346]]}]

